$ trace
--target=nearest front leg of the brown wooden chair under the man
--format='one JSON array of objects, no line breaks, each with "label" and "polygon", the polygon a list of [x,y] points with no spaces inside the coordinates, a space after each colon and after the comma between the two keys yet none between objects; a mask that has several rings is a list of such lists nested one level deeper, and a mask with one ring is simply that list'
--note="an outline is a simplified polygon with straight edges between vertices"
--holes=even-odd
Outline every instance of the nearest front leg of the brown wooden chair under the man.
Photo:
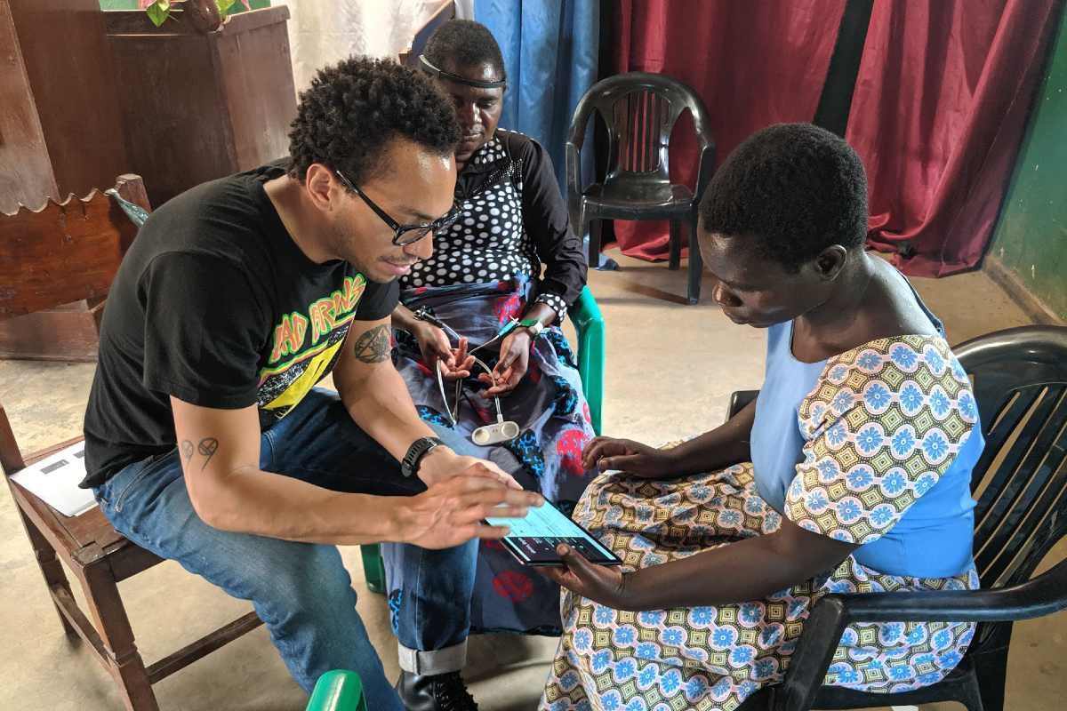
[{"label": "nearest front leg of the brown wooden chair under the man", "polygon": [[106,661],[118,684],[123,705],[127,711],[159,711],[110,566],[100,561],[87,565],[80,573],[85,601],[103,641]]}]

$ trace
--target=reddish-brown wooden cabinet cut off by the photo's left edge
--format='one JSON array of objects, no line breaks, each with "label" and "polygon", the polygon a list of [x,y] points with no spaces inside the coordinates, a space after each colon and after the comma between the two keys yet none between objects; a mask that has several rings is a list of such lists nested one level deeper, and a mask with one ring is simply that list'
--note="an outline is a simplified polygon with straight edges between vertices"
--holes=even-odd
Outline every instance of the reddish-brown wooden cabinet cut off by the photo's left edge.
[{"label": "reddish-brown wooden cabinet cut off by the photo's left edge", "polygon": [[130,172],[99,0],[0,0],[0,212]]}]

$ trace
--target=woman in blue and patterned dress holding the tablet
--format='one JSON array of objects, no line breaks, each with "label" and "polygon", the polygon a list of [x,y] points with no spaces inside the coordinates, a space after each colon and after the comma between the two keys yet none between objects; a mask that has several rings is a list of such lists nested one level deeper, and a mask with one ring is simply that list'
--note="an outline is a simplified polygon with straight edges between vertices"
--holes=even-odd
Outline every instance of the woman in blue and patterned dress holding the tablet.
[{"label": "woman in blue and patterned dress holding the tablet", "polygon": [[[807,124],[742,144],[701,204],[732,321],[767,328],[759,399],[672,449],[596,438],[574,513],[624,561],[561,547],[564,634],[541,709],[735,709],[783,678],[828,593],[971,589],[967,375],[907,279],[863,251],[855,151]],[[697,366],[699,367],[699,366]],[[669,387],[669,386],[668,386]],[[959,661],[967,624],[857,624],[826,683],[903,691]]]}]

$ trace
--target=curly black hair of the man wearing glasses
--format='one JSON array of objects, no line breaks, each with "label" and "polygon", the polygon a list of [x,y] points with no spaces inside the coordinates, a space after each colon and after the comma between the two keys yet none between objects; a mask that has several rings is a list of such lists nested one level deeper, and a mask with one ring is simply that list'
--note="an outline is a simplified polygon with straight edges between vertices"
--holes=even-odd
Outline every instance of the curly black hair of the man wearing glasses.
[{"label": "curly black hair of the man wearing glasses", "polygon": [[396,136],[450,156],[460,140],[456,111],[421,72],[351,56],[320,69],[301,93],[289,175],[303,180],[312,163],[322,163],[359,184],[383,167]]}]

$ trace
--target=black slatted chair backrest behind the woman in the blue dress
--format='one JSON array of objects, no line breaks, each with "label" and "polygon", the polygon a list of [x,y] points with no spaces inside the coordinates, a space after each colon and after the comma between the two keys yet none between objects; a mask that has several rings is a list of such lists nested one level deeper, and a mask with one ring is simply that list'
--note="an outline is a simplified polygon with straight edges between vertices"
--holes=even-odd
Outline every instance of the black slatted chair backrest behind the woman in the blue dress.
[{"label": "black slatted chair backrest behind the woman in the blue dress", "polygon": [[953,350],[986,437],[971,482],[975,564],[983,587],[1021,583],[1067,534],[1067,327],[1010,328]]}]

